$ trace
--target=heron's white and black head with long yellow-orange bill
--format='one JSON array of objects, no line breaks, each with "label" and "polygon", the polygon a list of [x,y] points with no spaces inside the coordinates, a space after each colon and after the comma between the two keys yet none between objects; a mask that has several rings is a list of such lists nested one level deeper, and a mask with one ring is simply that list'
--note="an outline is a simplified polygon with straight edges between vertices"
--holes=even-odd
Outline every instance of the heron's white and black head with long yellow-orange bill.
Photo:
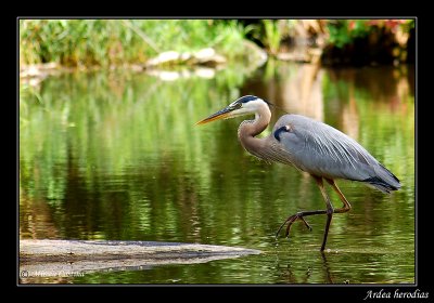
[{"label": "heron's white and black head with long yellow-orange bill", "polygon": [[235,100],[224,109],[218,110],[209,117],[199,121],[196,124],[205,124],[219,119],[229,119],[243,115],[255,114],[264,105],[268,106],[268,102],[255,95],[245,95]]}]

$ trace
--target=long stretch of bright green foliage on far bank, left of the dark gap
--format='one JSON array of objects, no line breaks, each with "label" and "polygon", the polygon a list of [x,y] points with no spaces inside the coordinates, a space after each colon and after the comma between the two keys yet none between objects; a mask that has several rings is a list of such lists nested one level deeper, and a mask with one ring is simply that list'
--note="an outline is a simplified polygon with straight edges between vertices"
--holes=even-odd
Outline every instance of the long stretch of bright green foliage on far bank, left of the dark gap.
[{"label": "long stretch of bright green foliage on far bank, left of the dark gap", "polygon": [[20,63],[143,63],[164,51],[215,47],[238,55],[243,29],[214,19],[21,19]]}]

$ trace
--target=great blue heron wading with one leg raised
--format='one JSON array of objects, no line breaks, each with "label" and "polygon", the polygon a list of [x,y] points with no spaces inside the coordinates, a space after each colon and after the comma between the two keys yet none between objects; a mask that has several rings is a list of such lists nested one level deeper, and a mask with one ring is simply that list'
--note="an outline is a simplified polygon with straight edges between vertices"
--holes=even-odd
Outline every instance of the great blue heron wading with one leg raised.
[{"label": "great blue heron wading with one leg raised", "polygon": [[[291,225],[296,220],[303,221],[306,227],[311,230],[304,218],[314,214],[327,214],[321,245],[321,251],[323,251],[333,213],[343,213],[352,209],[334,180],[345,179],[362,182],[387,194],[400,188],[399,180],[346,134],[301,115],[284,115],[276,122],[268,136],[264,139],[255,137],[270,122],[269,105],[270,103],[257,96],[245,95],[232,102],[226,108],[199,121],[197,124],[255,114],[254,120],[243,121],[238,129],[241,145],[248,153],[263,160],[291,164],[309,173],[317,182],[327,206],[326,210],[301,211],[290,215],[280,226],[276,236],[288,223],[285,233],[288,237]],[[323,179],[337,193],[343,202],[342,208],[333,208],[324,189]]]}]

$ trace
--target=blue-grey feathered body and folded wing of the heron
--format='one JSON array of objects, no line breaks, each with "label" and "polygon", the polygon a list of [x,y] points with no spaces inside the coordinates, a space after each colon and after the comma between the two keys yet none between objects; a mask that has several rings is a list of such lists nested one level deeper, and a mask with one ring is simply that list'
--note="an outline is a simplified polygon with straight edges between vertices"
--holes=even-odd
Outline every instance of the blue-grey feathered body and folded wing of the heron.
[{"label": "blue-grey feathered body and folded wing of the heron", "polygon": [[[273,133],[280,132],[279,140]],[[370,183],[380,190],[400,187],[398,179],[372,157],[360,144],[341,131],[298,115],[285,115],[267,139],[265,152],[270,160],[291,163],[310,174],[329,179],[347,179]]]}]

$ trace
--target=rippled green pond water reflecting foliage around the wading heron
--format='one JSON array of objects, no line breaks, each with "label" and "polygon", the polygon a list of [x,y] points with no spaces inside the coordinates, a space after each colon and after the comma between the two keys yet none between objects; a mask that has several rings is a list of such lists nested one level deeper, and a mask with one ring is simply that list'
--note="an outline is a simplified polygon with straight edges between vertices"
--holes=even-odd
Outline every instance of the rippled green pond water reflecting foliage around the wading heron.
[{"label": "rippled green pond water reflecting foliage around the wading heron", "polygon": [[[259,249],[259,255],[151,266],[50,284],[413,284],[413,67],[328,69],[269,62],[246,75],[165,81],[127,71],[71,74],[22,90],[20,238],[178,241]],[[324,209],[315,182],[267,164],[238,142],[243,118],[194,126],[243,94],[322,120],[362,144],[403,188],[384,195],[339,182],[349,213],[312,232],[280,224]],[[269,129],[266,130],[266,133]],[[336,207],[337,196],[329,193]]]}]

